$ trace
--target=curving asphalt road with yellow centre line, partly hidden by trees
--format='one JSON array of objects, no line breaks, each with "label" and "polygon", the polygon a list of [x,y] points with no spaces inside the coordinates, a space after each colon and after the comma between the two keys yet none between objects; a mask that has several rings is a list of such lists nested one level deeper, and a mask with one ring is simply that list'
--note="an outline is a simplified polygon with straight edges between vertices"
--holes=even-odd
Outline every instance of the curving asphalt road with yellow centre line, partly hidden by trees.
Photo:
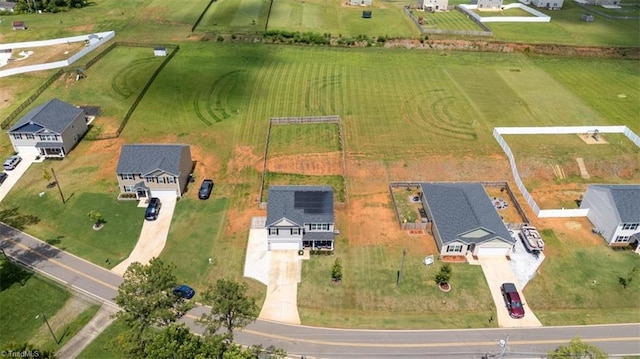
[{"label": "curving asphalt road with yellow centre line, partly hidden by trees", "polygon": [[[10,257],[76,290],[113,303],[122,278],[0,223],[0,248]],[[183,318],[194,323],[206,311],[196,307]],[[236,333],[242,344],[283,348],[307,358],[480,358],[483,355],[540,358],[574,337],[612,356],[640,355],[640,323],[518,329],[346,330],[258,320]],[[506,341],[501,347],[500,340]]]}]

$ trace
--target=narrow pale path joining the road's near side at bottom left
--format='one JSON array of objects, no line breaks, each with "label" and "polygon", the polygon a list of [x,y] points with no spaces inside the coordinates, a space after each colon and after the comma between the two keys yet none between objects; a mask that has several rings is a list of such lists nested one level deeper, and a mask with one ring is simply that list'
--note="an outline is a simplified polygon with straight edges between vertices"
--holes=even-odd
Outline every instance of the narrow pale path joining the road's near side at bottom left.
[{"label": "narrow pale path joining the road's near side at bottom left", "polygon": [[60,348],[57,353],[58,357],[73,359],[80,355],[80,353],[114,321],[112,316],[117,311],[118,308],[107,303],[103,304],[91,321],[89,321],[78,334],[71,338],[67,344]]}]

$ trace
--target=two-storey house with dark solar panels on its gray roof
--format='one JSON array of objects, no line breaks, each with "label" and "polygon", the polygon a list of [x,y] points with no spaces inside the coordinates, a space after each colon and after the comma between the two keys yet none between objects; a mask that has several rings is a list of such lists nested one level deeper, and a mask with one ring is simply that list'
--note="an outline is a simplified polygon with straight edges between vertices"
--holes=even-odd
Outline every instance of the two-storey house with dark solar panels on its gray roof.
[{"label": "two-storey house with dark solar panels on its gray roof", "polygon": [[333,250],[333,188],[269,187],[265,228],[269,250]]}]

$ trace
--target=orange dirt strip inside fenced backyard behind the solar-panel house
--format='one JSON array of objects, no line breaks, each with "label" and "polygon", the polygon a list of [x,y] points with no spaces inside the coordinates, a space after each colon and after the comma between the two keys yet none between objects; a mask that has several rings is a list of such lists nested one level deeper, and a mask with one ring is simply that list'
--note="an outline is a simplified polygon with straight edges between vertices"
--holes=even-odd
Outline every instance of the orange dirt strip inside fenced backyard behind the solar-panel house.
[{"label": "orange dirt strip inside fenced backyard behind the solar-panel house", "polygon": [[[267,160],[269,172],[296,173],[303,175],[341,175],[342,153],[307,153],[279,156]],[[258,171],[262,172],[260,165]]]}]

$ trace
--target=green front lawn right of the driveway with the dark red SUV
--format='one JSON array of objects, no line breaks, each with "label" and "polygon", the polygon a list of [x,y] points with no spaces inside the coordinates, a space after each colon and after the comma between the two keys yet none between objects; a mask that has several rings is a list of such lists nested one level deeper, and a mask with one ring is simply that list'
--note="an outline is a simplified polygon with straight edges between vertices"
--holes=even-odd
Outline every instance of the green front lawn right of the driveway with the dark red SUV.
[{"label": "green front lawn right of the driveway with the dark red SUV", "polygon": [[637,254],[604,246],[575,246],[549,230],[543,230],[542,235],[553,247],[554,256],[544,261],[525,294],[544,325],[640,320],[638,304],[623,299],[640,296],[640,282],[632,281],[627,289],[618,283],[631,268],[640,268]]}]

